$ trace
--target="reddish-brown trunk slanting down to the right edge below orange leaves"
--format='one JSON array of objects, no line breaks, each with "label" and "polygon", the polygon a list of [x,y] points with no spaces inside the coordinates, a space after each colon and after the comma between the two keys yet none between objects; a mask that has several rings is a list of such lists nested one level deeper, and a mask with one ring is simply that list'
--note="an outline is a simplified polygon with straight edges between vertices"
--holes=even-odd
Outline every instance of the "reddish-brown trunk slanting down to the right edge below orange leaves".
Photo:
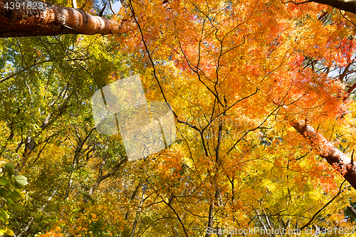
[{"label": "reddish-brown trunk slanting down to the right edge below orange leaves", "polygon": [[325,158],[356,189],[356,168],[354,161],[325,139],[323,135],[316,132],[313,127],[303,125],[300,122],[294,122],[292,125],[295,130],[310,141],[312,147],[318,149],[320,157]]}]

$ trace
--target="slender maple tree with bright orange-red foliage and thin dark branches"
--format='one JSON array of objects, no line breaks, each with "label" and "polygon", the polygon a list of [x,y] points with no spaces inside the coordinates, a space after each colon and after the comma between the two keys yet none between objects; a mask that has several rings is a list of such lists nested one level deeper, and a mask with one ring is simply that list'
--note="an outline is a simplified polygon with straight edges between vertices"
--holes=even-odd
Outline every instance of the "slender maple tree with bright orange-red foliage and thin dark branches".
[{"label": "slender maple tree with bright orange-red foliage and thin dark branches", "polygon": [[[144,4],[141,2],[141,4],[142,9],[150,9],[151,5],[149,3],[146,2]],[[288,19],[285,18],[279,20],[276,13],[278,11],[281,12],[281,10],[273,9],[273,4],[271,2],[269,2],[269,4],[268,9],[268,7],[262,3],[259,5],[256,4],[256,2],[248,2],[244,5],[244,9],[250,7],[250,10],[246,11],[246,15],[242,15],[241,11],[239,11],[239,17],[234,17],[234,14],[225,15],[222,12],[224,12],[224,9],[229,9],[230,13],[238,12],[239,4],[234,5],[229,2],[224,4],[221,2],[206,4],[197,2],[190,5],[192,9],[188,11],[189,4],[179,4],[172,1],[166,9],[169,15],[162,16],[168,18],[171,16],[172,21],[162,26],[159,25],[159,22],[162,22],[163,19],[155,17],[155,19],[158,19],[156,21],[157,23],[155,23],[152,16],[147,14],[137,13],[140,19],[135,19],[136,8],[131,1],[127,3],[127,9],[130,9],[134,18],[132,21],[137,23],[137,31],[140,31],[137,42],[139,42],[138,40],[141,38],[144,43],[135,44],[129,36],[129,40],[125,41],[125,47],[131,43],[132,47],[130,48],[147,51],[146,65],[152,65],[150,70],[153,71],[157,81],[160,80],[159,74],[180,70],[179,74],[181,75],[179,77],[169,73],[170,80],[180,77],[186,78],[185,80],[187,80],[187,78],[194,77],[197,79],[190,82],[192,84],[189,84],[189,88],[192,88],[194,81],[198,80],[198,85],[201,84],[197,86],[199,93],[194,97],[201,98],[201,101],[204,101],[204,105],[194,98],[194,102],[192,101],[191,104],[194,105],[194,107],[196,107],[195,109],[199,112],[194,112],[194,107],[189,107],[190,116],[196,114],[199,116],[195,117],[195,119],[199,120],[198,125],[196,122],[192,124],[185,122],[188,117],[180,119],[179,115],[177,115],[177,121],[199,132],[201,138],[199,142],[201,142],[202,149],[200,152],[204,152],[205,157],[211,157],[212,163],[206,167],[208,176],[210,176],[211,174],[209,173],[212,172],[215,179],[217,179],[216,176],[221,172],[224,174],[224,172],[221,171],[224,159],[226,159],[229,154],[234,153],[234,149],[237,148],[236,145],[250,132],[278,127],[279,123],[283,125],[283,122],[289,123],[293,122],[293,120],[304,120],[304,117],[308,117],[308,123],[310,121],[318,123],[324,120],[323,116],[320,115],[332,117],[333,119],[341,116],[339,114],[342,107],[339,106],[342,106],[342,84],[337,80],[328,81],[328,87],[323,87],[318,84],[320,81],[317,82],[315,78],[324,78],[322,80],[325,81],[327,77],[325,76],[325,72],[315,73],[315,71],[313,71],[315,65],[313,65],[313,68],[303,67],[304,70],[300,70],[303,61],[312,57],[318,57],[318,60],[315,60],[316,62],[323,62],[320,63],[321,65],[318,65],[319,67],[323,65],[330,70],[333,62],[328,62],[330,58],[327,57],[330,57],[331,52],[325,52],[325,46],[322,46],[323,40],[325,40],[325,45],[326,42],[328,42],[328,48],[340,48],[338,45],[330,46],[330,44],[333,43],[340,44],[340,41],[332,41],[328,38],[328,36],[333,37],[332,27],[329,28],[328,25],[323,27],[322,29],[325,29],[324,33],[320,30],[318,31],[318,29],[323,26],[323,22],[315,20],[318,20],[320,17],[321,9],[316,11],[314,15],[315,20],[309,21],[310,24],[308,24],[307,21],[300,23],[300,31],[298,31],[298,27],[295,27],[295,21],[288,22]],[[234,6],[236,7],[235,11],[233,11]],[[258,9],[258,6],[261,6],[261,9]],[[140,9],[140,7],[138,7],[138,9]],[[164,6],[161,7],[160,11],[165,11]],[[308,12],[308,14],[311,14],[312,11]],[[286,15],[283,15],[283,12],[281,15],[286,17]],[[267,20],[266,16],[270,16],[271,18]],[[250,19],[253,19],[253,21]],[[192,21],[194,24],[189,23]],[[140,23],[145,27],[140,26]],[[297,31],[288,31],[287,29],[290,28]],[[305,32],[306,28],[313,28],[314,31],[318,31],[318,33],[315,32],[315,35],[319,36],[318,39],[311,38],[310,31],[306,31],[308,33]],[[130,28],[127,28],[127,31],[129,30],[132,30],[132,25],[130,25]],[[135,32],[135,36],[137,36],[136,31],[133,32]],[[303,33],[306,34],[304,35]],[[292,34],[292,36],[290,36],[290,34]],[[327,37],[321,38],[322,36]],[[308,38],[310,42],[306,43],[305,38]],[[283,43],[279,43],[278,41],[283,41]],[[311,50],[310,45],[313,46]],[[140,48],[140,46],[142,48]],[[152,51],[150,51],[150,48]],[[329,52],[330,54],[328,55],[327,53]],[[335,51],[333,53],[335,53]],[[324,58],[323,55],[325,55]],[[345,55],[345,58],[350,60],[351,55],[352,48],[350,49],[348,58],[347,55]],[[156,60],[157,58],[169,58],[169,60],[174,63],[170,65],[171,68],[164,70],[167,66],[161,65],[160,63],[155,64],[152,58],[156,58]],[[268,60],[268,58],[271,58],[271,60]],[[333,60],[333,58],[331,60]],[[338,60],[340,60],[340,58],[338,58]],[[340,66],[342,66],[342,64],[340,64]],[[157,67],[157,69],[155,69],[155,67]],[[157,73],[156,75],[156,70],[159,70],[161,73]],[[299,77],[300,79],[298,79]],[[295,80],[287,80],[287,78],[295,78],[296,82]],[[164,81],[164,78],[161,80]],[[316,91],[310,88],[310,84],[313,85],[313,83],[320,85],[318,87],[314,85]],[[166,85],[166,87],[168,86],[169,85]],[[203,88],[201,88],[201,86],[203,86]],[[164,84],[162,88],[165,88]],[[180,88],[182,88],[182,85]],[[177,93],[181,98],[184,98],[184,91],[187,91],[187,88],[185,90],[179,90],[179,93],[177,93],[177,91],[174,92],[174,95]],[[192,89],[189,91],[192,91]],[[197,89],[193,91],[197,91]],[[263,91],[263,93],[260,94],[261,91]],[[163,91],[161,92],[163,93]],[[167,93],[172,92],[168,90]],[[326,98],[324,96],[326,96]],[[179,107],[179,105],[174,103],[176,99],[171,97],[172,95],[165,95],[164,99],[168,98],[167,101],[173,105],[173,108],[174,105]],[[190,97],[191,94],[185,98]],[[318,98],[318,101],[315,100],[315,98]],[[210,102],[206,102],[209,101],[209,99]],[[339,102],[337,102],[337,100]],[[308,105],[305,105],[305,102]],[[177,104],[181,103],[182,102],[177,101]],[[241,107],[239,106],[240,104]],[[253,104],[250,110],[248,110],[249,104]],[[209,107],[209,105],[211,107]],[[312,107],[315,109],[310,113],[302,110],[302,107],[308,107],[310,112],[312,111]],[[179,112],[183,110],[182,108],[178,109]],[[239,114],[239,110],[243,110],[244,112]],[[230,142],[231,144],[229,144],[226,141],[223,142],[221,136],[226,130],[226,125],[224,125],[226,118],[224,119],[224,117],[230,117],[231,115],[244,116],[247,121],[253,121],[254,124],[251,122],[252,125],[245,128],[244,135],[234,137],[235,139],[233,139],[233,141],[236,142]],[[274,122],[268,121],[272,116],[278,123],[275,124]],[[259,121],[257,117],[259,117]],[[278,120],[278,117],[281,117],[281,120]],[[218,126],[212,127],[212,120],[219,120]],[[268,125],[268,123],[270,123],[269,126],[263,126]],[[294,125],[295,128],[303,127],[298,127],[298,125],[301,125],[301,123],[297,122],[296,125]],[[308,124],[305,121],[305,126],[306,125]],[[207,135],[207,137],[204,137],[205,130],[211,130],[210,135]],[[299,129],[299,131],[302,134],[304,133],[301,129]],[[208,131],[206,131],[206,133],[207,132]],[[211,134],[213,135],[212,137]],[[309,135],[309,137],[313,137],[313,135]],[[313,142],[315,142],[315,139]],[[320,146],[322,142],[323,141],[319,141],[316,142],[316,144]],[[224,147],[224,145],[227,145],[227,147]],[[211,148],[209,149],[209,147]],[[278,147],[281,149],[281,144],[279,144]],[[326,149],[328,149],[328,147],[323,147],[323,149],[325,149],[324,152],[327,152]],[[256,147],[254,147],[253,151],[256,152],[256,150]],[[226,153],[224,156],[221,155],[223,152]],[[246,156],[246,154],[244,156]],[[232,155],[230,159],[233,159],[232,157],[234,157],[234,155]],[[258,155],[253,154],[252,157],[258,157]],[[328,155],[325,157],[328,157]],[[201,163],[204,164],[204,162],[199,162],[199,165],[201,165]],[[347,164],[350,164],[350,162],[347,162]],[[342,168],[347,169],[347,167]],[[352,171],[352,169],[353,168],[350,167],[349,170]],[[352,184],[352,179],[350,179],[350,183]],[[214,226],[216,206],[221,206],[219,200],[221,199],[222,188],[219,186],[222,184],[224,184],[224,181],[214,180],[211,182],[214,191],[209,190],[204,192],[210,193],[211,197],[215,200],[210,202],[209,214],[206,214],[209,220],[209,228]],[[234,183],[231,185],[234,186]],[[182,227],[184,228],[183,223]],[[189,235],[186,233],[185,228],[184,233],[186,236]],[[206,234],[206,236],[209,235]]]}]

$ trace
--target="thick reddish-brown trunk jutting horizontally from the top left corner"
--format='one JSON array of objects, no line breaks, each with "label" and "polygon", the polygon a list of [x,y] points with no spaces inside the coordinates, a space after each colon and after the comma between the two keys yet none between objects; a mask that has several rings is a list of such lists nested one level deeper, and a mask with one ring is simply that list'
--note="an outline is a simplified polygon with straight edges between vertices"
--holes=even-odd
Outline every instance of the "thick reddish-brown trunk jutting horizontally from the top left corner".
[{"label": "thick reddish-brown trunk jutting horizontally from the top left corner", "polygon": [[111,33],[115,26],[115,22],[100,16],[91,16],[80,9],[42,1],[0,0],[1,38],[59,34],[104,35]]}]

